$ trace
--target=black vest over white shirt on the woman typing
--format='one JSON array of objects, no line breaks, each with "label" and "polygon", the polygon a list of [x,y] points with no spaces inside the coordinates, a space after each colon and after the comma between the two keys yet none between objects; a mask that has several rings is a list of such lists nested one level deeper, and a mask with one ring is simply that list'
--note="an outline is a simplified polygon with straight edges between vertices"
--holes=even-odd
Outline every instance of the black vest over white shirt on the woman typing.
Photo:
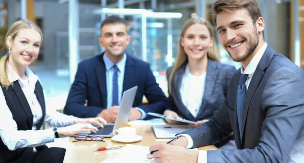
[{"label": "black vest over white shirt on the woman typing", "polygon": [[[18,80],[13,83],[13,86],[9,86],[8,89],[3,88],[1,84],[0,86],[4,93],[7,105],[9,106],[10,111],[12,112],[13,119],[17,123],[18,130],[31,130],[33,126],[33,115]],[[45,104],[43,89],[39,81],[36,82],[34,92],[42,107],[42,113],[43,113],[40,122],[37,124],[37,129],[40,129],[46,115],[46,104]],[[47,148],[47,146],[43,145],[36,147],[38,151],[44,148]],[[0,139],[1,163],[2,162],[30,163],[32,157],[33,157],[33,147],[18,148],[14,151],[11,151],[3,143],[2,139]]]}]

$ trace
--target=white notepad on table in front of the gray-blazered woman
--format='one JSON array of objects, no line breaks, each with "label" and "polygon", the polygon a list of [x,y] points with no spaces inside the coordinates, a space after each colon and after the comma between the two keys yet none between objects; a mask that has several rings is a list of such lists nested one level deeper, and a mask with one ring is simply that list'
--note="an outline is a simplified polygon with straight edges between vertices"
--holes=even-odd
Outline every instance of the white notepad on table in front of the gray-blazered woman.
[{"label": "white notepad on table in front of the gray-blazered woman", "polygon": [[156,138],[174,138],[176,134],[193,129],[189,125],[154,125],[152,130]]}]

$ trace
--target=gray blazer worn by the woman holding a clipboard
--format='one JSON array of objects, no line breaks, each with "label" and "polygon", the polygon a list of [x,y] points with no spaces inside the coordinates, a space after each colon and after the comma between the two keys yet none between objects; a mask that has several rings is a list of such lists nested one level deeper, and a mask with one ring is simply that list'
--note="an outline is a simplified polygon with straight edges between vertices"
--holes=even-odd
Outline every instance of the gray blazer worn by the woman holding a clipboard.
[{"label": "gray blazer worn by the woman holding a clipboard", "polygon": [[[185,62],[175,73],[172,79],[172,94],[169,92],[168,110],[176,112],[181,118],[191,121],[200,121],[210,119],[213,112],[218,110],[219,103],[222,103],[227,95],[230,80],[236,71],[236,68],[230,65],[215,62],[208,58],[208,67],[206,74],[205,92],[202,104],[197,117],[188,111],[181,100],[179,93],[182,76],[185,72],[187,62]],[[167,69],[167,79],[173,69]]]}]

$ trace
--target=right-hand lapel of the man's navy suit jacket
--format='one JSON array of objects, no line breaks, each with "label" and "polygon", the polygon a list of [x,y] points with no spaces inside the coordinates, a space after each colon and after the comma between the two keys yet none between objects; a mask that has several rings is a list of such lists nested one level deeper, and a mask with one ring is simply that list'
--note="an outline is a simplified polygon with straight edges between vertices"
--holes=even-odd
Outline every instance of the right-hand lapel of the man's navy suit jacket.
[{"label": "right-hand lapel of the man's navy suit jacket", "polygon": [[[125,65],[125,74],[124,74],[124,83],[123,83],[123,92],[133,86],[135,82],[134,80],[134,72],[135,72],[135,67],[133,65],[133,59],[130,55],[126,55],[127,60],[126,60],[126,65]],[[123,95],[123,93],[122,93]]]}]

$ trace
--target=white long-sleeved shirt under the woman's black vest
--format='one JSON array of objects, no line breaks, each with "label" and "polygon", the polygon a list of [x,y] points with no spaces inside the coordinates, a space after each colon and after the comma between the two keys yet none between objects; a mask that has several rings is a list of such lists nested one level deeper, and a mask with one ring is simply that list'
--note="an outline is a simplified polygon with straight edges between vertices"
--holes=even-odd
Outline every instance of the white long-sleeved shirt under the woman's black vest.
[{"label": "white long-sleeved shirt under the woman's black vest", "polygon": [[[52,142],[55,139],[52,128],[47,130],[36,130],[36,125],[42,118],[42,108],[34,93],[35,84],[39,78],[29,68],[26,68],[25,74],[27,79],[21,80],[12,66],[8,64],[8,78],[10,82],[18,80],[33,114],[32,130],[18,130],[10,108],[6,103],[3,91],[0,89],[0,136],[4,144],[8,146],[10,150],[16,150],[17,148],[23,147],[41,146],[48,142]],[[45,121],[49,122],[52,126],[69,126],[74,123],[75,119],[77,119],[73,116],[67,116],[56,112],[54,108],[50,108],[46,96],[45,101]],[[22,108],[20,108],[20,112],[23,112]]]}]

